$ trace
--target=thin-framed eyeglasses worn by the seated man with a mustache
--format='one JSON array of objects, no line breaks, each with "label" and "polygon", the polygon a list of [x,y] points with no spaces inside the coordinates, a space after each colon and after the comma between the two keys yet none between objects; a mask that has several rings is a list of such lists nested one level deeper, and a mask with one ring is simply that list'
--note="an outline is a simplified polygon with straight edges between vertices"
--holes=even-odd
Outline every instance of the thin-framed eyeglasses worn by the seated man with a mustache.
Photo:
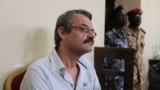
[{"label": "thin-framed eyeglasses worn by the seated man with a mustache", "polygon": [[78,29],[81,32],[84,32],[84,33],[87,33],[87,34],[91,32],[92,34],[97,35],[97,33],[95,32],[94,29],[89,29],[89,27],[87,27],[87,26],[71,26],[71,28]]}]

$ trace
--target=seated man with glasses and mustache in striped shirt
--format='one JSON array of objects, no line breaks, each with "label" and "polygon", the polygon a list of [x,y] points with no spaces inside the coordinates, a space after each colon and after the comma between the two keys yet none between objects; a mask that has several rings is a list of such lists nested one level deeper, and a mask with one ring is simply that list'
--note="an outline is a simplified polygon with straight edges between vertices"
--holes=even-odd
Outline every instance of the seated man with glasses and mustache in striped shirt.
[{"label": "seated man with glasses and mustache in striped shirt", "polygon": [[101,90],[93,65],[83,56],[92,51],[96,36],[91,19],[81,9],[59,16],[55,48],[29,66],[21,90]]}]

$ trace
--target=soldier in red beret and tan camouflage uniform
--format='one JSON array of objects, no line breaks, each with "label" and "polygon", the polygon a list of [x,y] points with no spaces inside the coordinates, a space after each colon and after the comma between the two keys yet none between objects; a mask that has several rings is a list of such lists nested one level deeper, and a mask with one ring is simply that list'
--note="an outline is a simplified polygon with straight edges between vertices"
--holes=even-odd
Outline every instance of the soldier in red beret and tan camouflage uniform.
[{"label": "soldier in red beret and tan camouflage uniform", "polygon": [[142,10],[134,8],[128,13],[129,26],[125,30],[128,39],[128,47],[137,50],[134,61],[134,90],[144,90],[145,87],[145,68],[143,63],[144,37],[145,31],[140,27],[142,19]]}]

